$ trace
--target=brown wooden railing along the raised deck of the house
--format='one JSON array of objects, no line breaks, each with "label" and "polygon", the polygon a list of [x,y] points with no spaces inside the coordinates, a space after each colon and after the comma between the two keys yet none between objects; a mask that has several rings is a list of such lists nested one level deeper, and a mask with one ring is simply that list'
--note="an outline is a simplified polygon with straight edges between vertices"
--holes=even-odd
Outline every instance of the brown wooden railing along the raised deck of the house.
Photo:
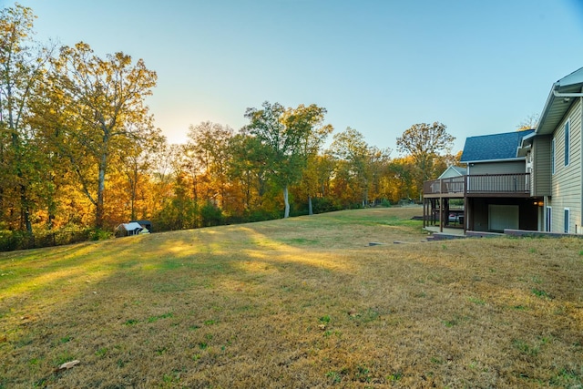
[{"label": "brown wooden railing along the raised deck of the house", "polygon": [[450,179],[432,179],[424,182],[424,195],[476,194],[522,195],[530,194],[529,173],[472,174]]}]

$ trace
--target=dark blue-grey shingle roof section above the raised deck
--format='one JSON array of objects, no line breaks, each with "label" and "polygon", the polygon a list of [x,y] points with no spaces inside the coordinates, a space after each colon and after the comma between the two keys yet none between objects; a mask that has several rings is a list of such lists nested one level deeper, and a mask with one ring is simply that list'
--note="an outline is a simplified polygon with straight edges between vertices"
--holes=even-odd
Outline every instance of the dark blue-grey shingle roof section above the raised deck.
[{"label": "dark blue-grey shingle roof section above the raised deck", "polygon": [[516,159],[520,140],[535,132],[513,131],[503,134],[483,135],[480,137],[465,138],[462,162],[475,162],[498,159]]}]

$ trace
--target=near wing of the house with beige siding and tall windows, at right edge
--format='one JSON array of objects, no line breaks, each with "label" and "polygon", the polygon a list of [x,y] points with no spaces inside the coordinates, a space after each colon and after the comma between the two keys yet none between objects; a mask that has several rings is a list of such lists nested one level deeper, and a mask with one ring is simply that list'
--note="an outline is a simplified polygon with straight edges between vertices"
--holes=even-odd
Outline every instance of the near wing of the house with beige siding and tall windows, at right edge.
[{"label": "near wing of the house with beige siding and tall windows, at right edge", "polygon": [[552,85],[537,129],[521,144],[544,207],[539,230],[583,233],[582,111],[583,67]]}]

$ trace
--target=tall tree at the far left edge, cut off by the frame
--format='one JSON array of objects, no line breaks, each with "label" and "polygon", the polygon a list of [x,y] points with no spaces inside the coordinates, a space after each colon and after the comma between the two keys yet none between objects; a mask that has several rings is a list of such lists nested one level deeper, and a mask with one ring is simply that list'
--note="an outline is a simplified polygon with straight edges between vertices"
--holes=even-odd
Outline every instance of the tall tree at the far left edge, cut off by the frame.
[{"label": "tall tree at the far left edge, cut off by the frame", "polygon": [[[0,11],[0,220],[6,208],[32,231],[30,190],[38,178],[38,148],[30,146],[28,102],[44,76],[51,50],[32,41],[35,15],[16,4]],[[8,199],[10,198],[10,199]]]}]

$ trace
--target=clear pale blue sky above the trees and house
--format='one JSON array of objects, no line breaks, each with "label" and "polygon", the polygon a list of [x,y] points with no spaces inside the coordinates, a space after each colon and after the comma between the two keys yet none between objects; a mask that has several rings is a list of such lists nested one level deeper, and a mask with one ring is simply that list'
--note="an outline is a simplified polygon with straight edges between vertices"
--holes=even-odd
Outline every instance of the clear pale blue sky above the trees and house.
[{"label": "clear pale blue sky above the trees and house", "polygon": [[[158,74],[150,112],[170,143],[235,130],[264,101],[327,109],[334,133],[392,148],[416,123],[455,137],[516,130],[583,67],[583,0],[18,0],[36,40],[119,51]],[[0,5],[12,6],[11,0]]]}]

